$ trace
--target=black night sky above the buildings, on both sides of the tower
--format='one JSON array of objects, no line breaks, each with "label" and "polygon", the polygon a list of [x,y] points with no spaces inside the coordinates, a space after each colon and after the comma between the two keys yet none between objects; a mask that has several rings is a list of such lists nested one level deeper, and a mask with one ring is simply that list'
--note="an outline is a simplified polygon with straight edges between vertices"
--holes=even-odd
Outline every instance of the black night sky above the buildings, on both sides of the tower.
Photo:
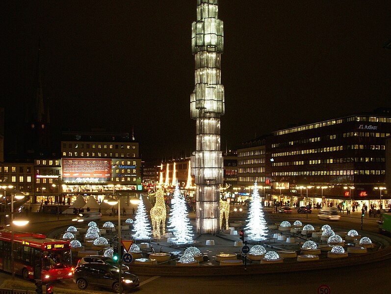
[{"label": "black night sky above the buildings, on both sides of the tower", "polygon": [[[134,126],[145,160],[194,150],[196,0],[12,0],[1,1],[0,17],[7,146],[35,96],[41,38],[53,130]],[[390,1],[220,0],[219,18],[223,151],[293,124],[391,107]]]}]

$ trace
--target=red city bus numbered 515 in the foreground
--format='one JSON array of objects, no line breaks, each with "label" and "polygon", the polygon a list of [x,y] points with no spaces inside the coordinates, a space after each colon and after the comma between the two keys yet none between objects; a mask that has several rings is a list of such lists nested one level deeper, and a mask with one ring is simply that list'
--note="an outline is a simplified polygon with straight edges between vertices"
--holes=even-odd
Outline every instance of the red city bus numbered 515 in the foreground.
[{"label": "red city bus numbered 515 in the foreground", "polygon": [[[70,242],[49,239],[42,234],[14,232],[15,273],[25,279],[34,279],[36,268],[41,268],[43,282],[72,278]],[[0,231],[0,269],[12,270],[11,232],[5,230]]]}]

